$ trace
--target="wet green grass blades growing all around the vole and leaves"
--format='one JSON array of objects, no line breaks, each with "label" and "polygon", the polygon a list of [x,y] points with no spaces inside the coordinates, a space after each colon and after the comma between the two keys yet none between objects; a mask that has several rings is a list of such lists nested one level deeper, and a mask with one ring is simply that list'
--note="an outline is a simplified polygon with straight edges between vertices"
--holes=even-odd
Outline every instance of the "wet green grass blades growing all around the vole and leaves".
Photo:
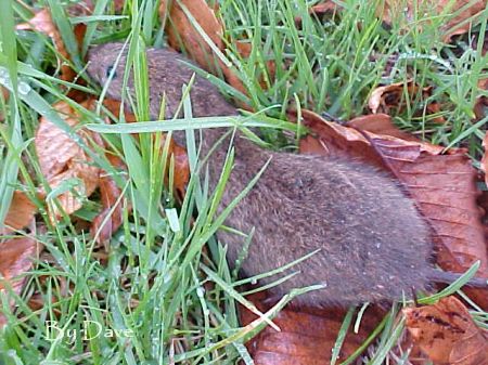
[{"label": "wet green grass blades growing all around the vole and leaves", "polygon": [[[117,173],[101,148],[87,146],[50,108],[59,100],[69,102],[82,115],[82,123],[105,132],[95,113],[85,110],[65,96],[69,88],[97,91],[59,81],[55,50],[44,35],[12,30],[13,24],[31,16],[23,3],[0,1],[3,48],[0,83],[12,90],[16,90],[17,83],[23,86],[18,93],[11,94],[8,102],[1,100],[0,104],[5,116],[0,125],[0,222],[12,192],[26,192],[38,204],[38,227],[46,229],[18,234],[35,236],[46,250],[26,274],[27,284],[21,296],[9,290],[1,295],[9,325],[0,336],[0,364],[233,364],[237,359],[252,364],[243,343],[269,325],[270,318],[300,290],[261,315],[255,327],[240,326],[237,303],[257,310],[236,290],[242,282],[229,269],[226,249],[214,237],[232,208],[217,214],[216,206],[232,165],[233,151],[229,149],[216,192],[208,191],[208,178],[205,171],[200,171],[201,179],[196,174],[192,177],[184,201],[178,207],[172,190],[163,187],[162,181],[165,164],[174,164],[166,162],[168,146],[163,147],[162,154],[154,147],[158,144],[152,143],[168,128],[164,122],[129,126],[121,120],[117,126],[121,134],[104,134],[128,166],[127,173]],[[466,146],[474,164],[478,164],[487,118],[473,122],[473,106],[481,94],[478,80],[488,77],[488,56],[481,54],[483,42],[474,48],[471,39],[473,35],[485,37],[488,10],[475,23],[471,35],[445,44],[438,29],[452,16],[448,13],[433,17],[432,23],[425,22],[432,14],[418,14],[415,25],[422,25],[423,31],[414,25],[401,28],[404,14],[398,14],[388,29],[375,16],[370,1],[343,1],[344,10],[322,19],[308,12],[313,3],[317,1],[220,2],[219,16],[227,25],[230,51],[219,56],[234,65],[248,96],[219,78],[210,79],[222,93],[248,103],[255,110],[266,109],[270,118],[197,118],[193,126],[272,127],[262,130],[261,143],[272,148],[294,148],[296,141],[290,141],[282,132],[296,129],[284,121],[288,106],[347,120],[364,114],[368,97],[378,84],[413,79],[421,87],[432,86],[433,94],[427,100],[421,93],[406,94],[407,107],[394,115],[397,125],[433,143]],[[147,75],[141,49],[144,44],[165,45],[157,1],[126,1],[123,14],[117,15],[111,1],[98,1],[94,15],[82,18],[67,15],[67,1],[47,0],[36,5],[55,9],[55,23],[79,73],[85,66],[82,53],[89,44],[129,37],[137,93],[133,101],[127,102],[136,105],[140,120],[147,120]],[[297,26],[297,16],[301,17],[301,28]],[[73,42],[73,24],[79,22],[88,24],[81,54]],[[236,40],[251,42],[249,58],[243,60],[235,52]],[[265,67],[270,60],[277,66],[274,77]],[[385,74],[391,60],[391,71]],[[440,103],[446,123],[436,125],[432,116],[422,113],[431,101]],[[185,116],[191,116],[189,100],[183,101],[182,107]],[[126,192],[120,197],[126,207],[124,225],[114,235],[106,255],[69,218],[53,225],[42,201],[36,197],[36,186],[47,186],[33,143],[39,116],[50,118],[66,131]],[[171,126],[187,130],[191,170],[198,171],[194,129],[184,120]],[[136,141],[127,134],[134,131],[154,133],[142,134]],[[97,194],[87,198],[76,216],[93,218],[101,208]],[[134,207],[132,212],[127,208],[129,205]],[[457,289],[459,285],[440,296]],[[40,296],[41,308],[27,305],[34,296]],[[438,297],[423,300],[432,302]],[[14,310],[9,309],[9,300],[15,302]],[[374,343],[364,364],[383,364],[389,356],[404,326],[403,322],[396,321],[401,307],[401,303],[394,305],[361,347],[364,350]],[[478,324],[487,327],[487,313],[475,305],[473,309]],[[57,321],[56,326],[65,329],[66,336],[48,339],[48,320]],[[69,337],[68,334],[80,334],[84,321],[100,323],[103,331],[127,331],[131,337],[89,340]],[[360,354],[358,350],[345,362],[336,359],[345,331],[352,324],[358,326],[360,321],[361,316],[352,311],[346,316],[333,352],[336,364],[352,363]],[[95,329],[92,325],[90,334]]]}]

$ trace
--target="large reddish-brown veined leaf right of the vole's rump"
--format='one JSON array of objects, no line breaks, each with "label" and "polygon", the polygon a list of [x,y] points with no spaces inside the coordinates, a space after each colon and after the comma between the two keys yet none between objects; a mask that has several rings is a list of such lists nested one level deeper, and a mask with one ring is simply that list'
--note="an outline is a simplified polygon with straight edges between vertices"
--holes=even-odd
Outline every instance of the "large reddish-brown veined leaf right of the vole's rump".
[{"label": "large reddish-brown veined leaf right of the vole's rump", "polygon": [[[452,149],[450,154],[433,155],[398,141],[372,140],[428,219],[435,232],[439,266],[464,272],[479,260],[477,276],[488,277],[487,246],[476,204],[476,171],[465,152]],[[466,292],[488,308],[487,290],[466,288]]]}]

